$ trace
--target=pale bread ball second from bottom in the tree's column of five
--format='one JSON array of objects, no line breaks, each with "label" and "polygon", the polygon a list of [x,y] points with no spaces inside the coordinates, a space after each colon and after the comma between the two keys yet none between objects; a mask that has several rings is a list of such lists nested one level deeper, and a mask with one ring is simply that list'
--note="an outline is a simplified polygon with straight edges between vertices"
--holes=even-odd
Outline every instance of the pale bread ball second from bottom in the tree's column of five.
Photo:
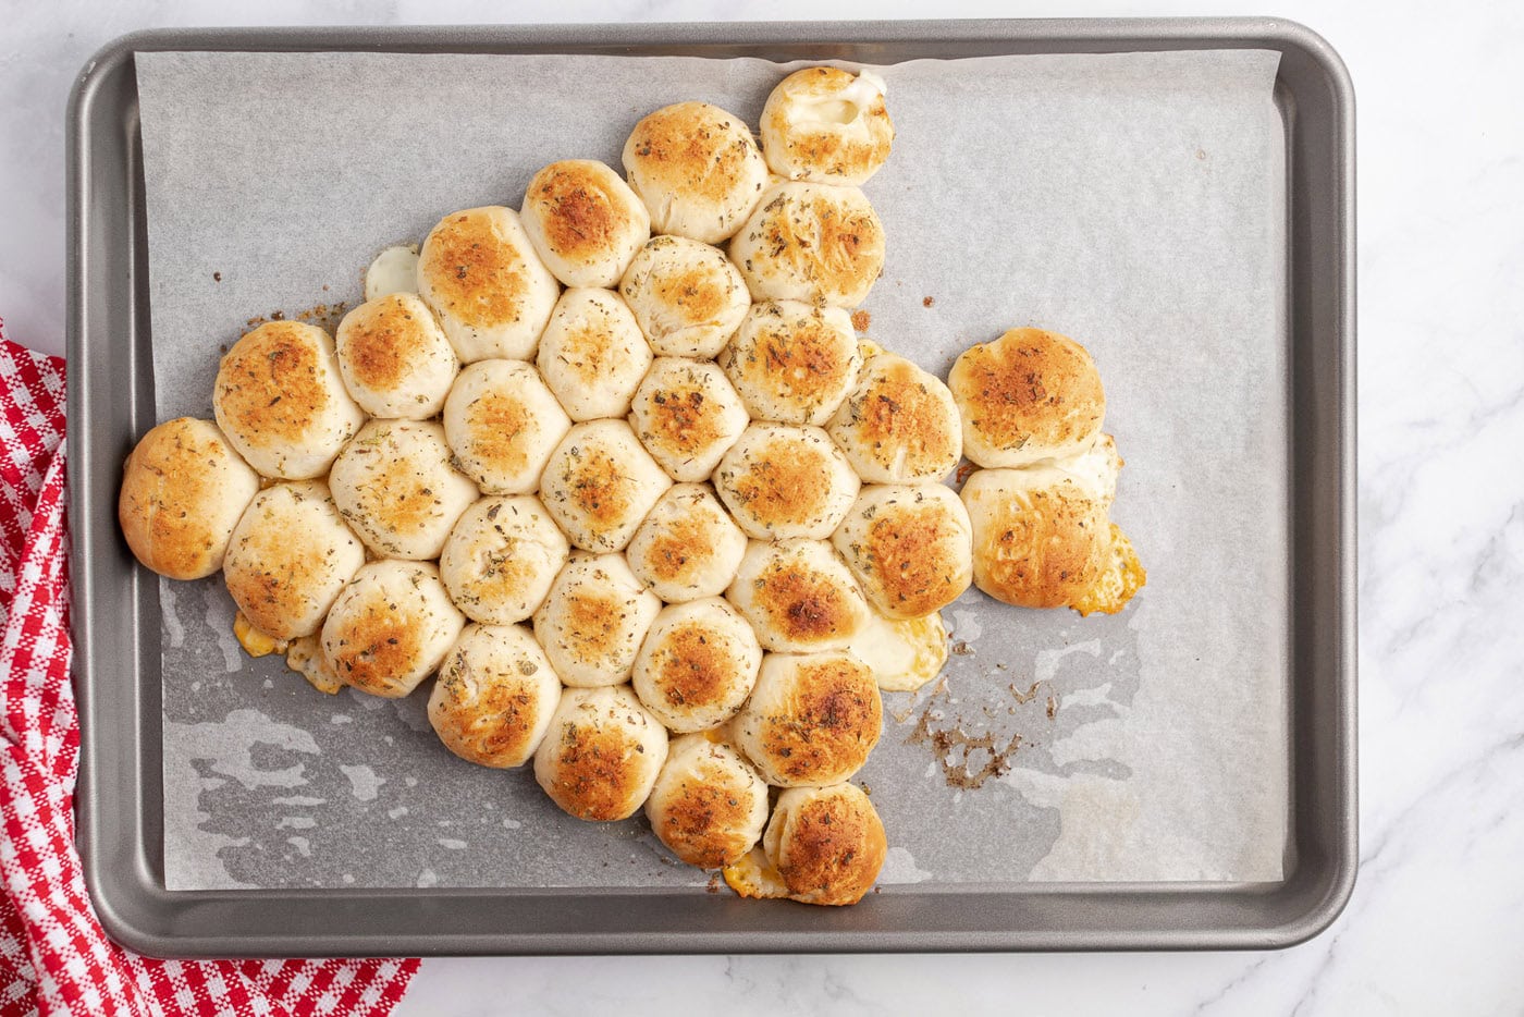
[{"label": "pale bread ball second from bottom in the tree's column of five", "polygon": [[573,555],[535,611],[535,639],[565,685],[620,685],[660,611],[623,555]]}]

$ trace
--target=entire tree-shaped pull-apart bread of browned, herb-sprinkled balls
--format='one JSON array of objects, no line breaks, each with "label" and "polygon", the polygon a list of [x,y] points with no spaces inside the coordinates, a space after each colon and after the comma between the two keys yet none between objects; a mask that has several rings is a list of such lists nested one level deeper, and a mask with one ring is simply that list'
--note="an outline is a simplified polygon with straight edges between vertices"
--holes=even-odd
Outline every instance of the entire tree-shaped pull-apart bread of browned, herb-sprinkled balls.
[{"label": "entire tree-shaped pull-apart bread of browned, herb-sprinkled balls", "polygon": [[215,424],[143,436],[128,549],[221,570],[245,650],[323,692],[437,675],[445,749],[532,761],[576,819],[643,808],[742,897],[856,903],[887,842],[847,781],[881,691],[946,662],[940,610],[974,582],[1116,611],[1143,584],[1082,346],[1013,329],[943,384],[858,337],[885,253],[860,188],[893,137],[881,79],[809,67],[760,148],[680,102],[625,177],[559,160],[517,212],[443,217],[376,256],[337,342],[255,328]]}]

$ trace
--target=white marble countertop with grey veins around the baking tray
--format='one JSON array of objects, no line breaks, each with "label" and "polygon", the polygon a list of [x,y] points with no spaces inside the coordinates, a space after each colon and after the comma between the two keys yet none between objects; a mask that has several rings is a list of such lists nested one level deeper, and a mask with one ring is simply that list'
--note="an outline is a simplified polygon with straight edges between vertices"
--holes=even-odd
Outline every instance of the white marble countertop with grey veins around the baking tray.
[{"label": "white marble countertop with grey veins around the baking tray", "polygon": [[[1248,0],[538,0],[520,21],[1265,14]],[[430,959],[399,1014],[1518,1012],[1524,8],[1292,0],[1359,96],[1361,872],[1279,953]],[[0,316],[62,351],[64,99],[137,27],[475,23],[477,0],[0,5]],[[596,964],[596,968],[591,967]],[[584,973],[596,970],[597,977]]]}]

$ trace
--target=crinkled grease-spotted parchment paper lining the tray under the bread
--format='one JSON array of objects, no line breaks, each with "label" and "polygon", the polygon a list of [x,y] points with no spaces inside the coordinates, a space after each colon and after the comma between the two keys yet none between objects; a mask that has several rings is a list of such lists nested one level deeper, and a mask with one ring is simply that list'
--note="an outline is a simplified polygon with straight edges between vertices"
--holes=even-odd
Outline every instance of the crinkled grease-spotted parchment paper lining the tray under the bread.
[{"label": "crinkled grease-spotted parchment paper lining the tray under the bread", "polygon": [[[942,377],[1009,326],[1084,342],[1128,462],[1114,518],[1149,570],[1116,618],[978,593],[948,608],[945,683],[885,697],[895,717],[860,778],[893,845],[887,884],[1282,877],[1276,61],[1017,56],[881,72],[898,137],[867,186],[890,252],[866,303],[870,335]],[[629,128],[660,105],[706,99],[756,124],[785,70],[366,53],[140,53],[137,67],[160,419],[210,416],[219,349],[251,319],[352,306],[383,247],[419,241],[453,209],[518,206],[550,160],[619,166]],[[427,686],[401,703],[320,695],[277,659],[242,656],[218,579],[162,593],[171,889],[701,892],[706,874],[642,820],[575,822],[527,770],[447,753],[424,717]],[[1001,765],[986,767],[992,752]]]}]

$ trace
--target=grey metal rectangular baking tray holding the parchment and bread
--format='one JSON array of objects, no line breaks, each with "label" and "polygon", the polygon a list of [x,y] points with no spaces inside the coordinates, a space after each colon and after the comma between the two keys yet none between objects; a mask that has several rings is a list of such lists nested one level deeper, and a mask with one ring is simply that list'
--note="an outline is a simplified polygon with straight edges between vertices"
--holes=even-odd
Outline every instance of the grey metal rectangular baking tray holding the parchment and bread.
[{"label": "grey metal rectangular baking tray holding the parchment and bread", "polygon": [[[1288,172],[1291,814],[1277,883],[896,887],[855,909],[692,890],[169,892],[158,585],[116,488],[154,421],[134,58],[152,50],[392,50],[896,63],[1013,53],[1268,49]],[[741,953],[1286,947],[1353,887],[1355,127],[1335,52],[1277,18],[155,30],[120,38],[69,104],[69,418],[78,845],[96,912],[157,956]]]}]

